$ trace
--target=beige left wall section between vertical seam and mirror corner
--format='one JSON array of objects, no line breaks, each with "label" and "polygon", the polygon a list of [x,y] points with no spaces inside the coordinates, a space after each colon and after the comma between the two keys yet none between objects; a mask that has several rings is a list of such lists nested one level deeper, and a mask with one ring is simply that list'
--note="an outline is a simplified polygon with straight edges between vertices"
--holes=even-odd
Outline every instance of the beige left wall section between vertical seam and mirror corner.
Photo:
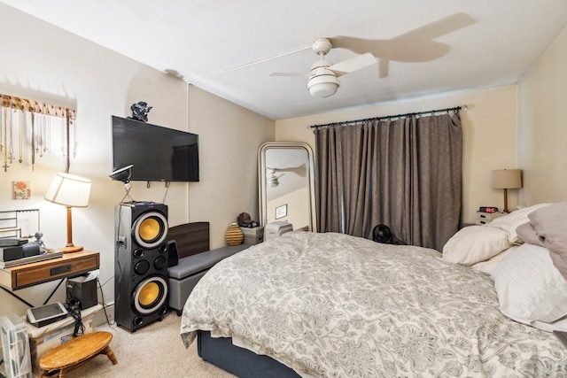
[{"label": "beige left wall section between vertical seam and mirror corner", "polygon": [[190,86],[190,130],[199,135],[201,181],[190,183],[190,220],[211,222],[211,248],[241,212],[258,220],[257,152],[274,121]]}]

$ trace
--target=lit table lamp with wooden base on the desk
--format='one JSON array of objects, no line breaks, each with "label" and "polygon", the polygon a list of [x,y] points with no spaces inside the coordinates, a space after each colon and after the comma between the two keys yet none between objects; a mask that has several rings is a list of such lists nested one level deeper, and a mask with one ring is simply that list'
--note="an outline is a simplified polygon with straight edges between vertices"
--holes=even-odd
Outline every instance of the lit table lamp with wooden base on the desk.
[{"label": "lit table lamp with wooden base on the desk", "polygon": [[63,253],[82,251],[82,246],[73,244],[72,207],[87,207],[89,205],[90,180],[73,174],[57,174],[51,182],[50,189],[45,194],[46,200],[54,204],[62,204],[67,208],[67,243],[59,249]]}]

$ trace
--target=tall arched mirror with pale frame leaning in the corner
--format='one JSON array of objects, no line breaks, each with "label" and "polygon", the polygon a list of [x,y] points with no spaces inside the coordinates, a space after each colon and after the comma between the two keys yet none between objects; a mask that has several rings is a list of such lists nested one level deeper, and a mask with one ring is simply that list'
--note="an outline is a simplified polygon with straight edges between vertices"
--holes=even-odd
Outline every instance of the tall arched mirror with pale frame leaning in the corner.
[{"label": "tall arched mirror with pale frame leaning in the corner", "polygon": [[316,232],[313,150],[307,143],[268,142],[258,152],[260,226],[287,221]]}]

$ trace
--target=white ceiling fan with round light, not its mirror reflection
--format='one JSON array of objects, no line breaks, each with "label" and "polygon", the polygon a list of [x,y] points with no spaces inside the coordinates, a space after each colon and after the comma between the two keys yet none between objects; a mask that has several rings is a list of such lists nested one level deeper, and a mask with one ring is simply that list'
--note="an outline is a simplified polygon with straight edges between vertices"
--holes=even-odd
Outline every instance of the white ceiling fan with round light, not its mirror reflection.
[{"label": "white ceiling fan with round light, not its mirror reflection", "polygon": [[340,81],[338,77],[346,75],[346,73],[353,73],[366,66],[371,66],[377,63],[376,58],[369,52],[359,55],[354,58],[347,59],[336,65],[325,60],[324,56],[329,53],[333,45],[328,38],[319,38],[313,42],[312,49],[320,59],[317,60],[312,66],[309,73],[270,73],[272,76],[293,76],[293,77],[308,77],[307,90],[311,96],[315,97],[329,97],[337,93]]}]

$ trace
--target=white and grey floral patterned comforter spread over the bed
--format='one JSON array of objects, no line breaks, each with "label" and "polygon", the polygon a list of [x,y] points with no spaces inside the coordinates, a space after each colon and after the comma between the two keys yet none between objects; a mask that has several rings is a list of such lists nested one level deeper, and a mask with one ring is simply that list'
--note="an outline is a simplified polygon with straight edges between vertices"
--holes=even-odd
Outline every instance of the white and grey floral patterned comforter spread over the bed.
[{"label": "white and grey floral patterned comforter spread over the bed", "polygon": [[490,277],[437,251],[292,232],[214,266],[183,308],[196,330],[304,376],[567,377],[553,334],[504,317]]}]

